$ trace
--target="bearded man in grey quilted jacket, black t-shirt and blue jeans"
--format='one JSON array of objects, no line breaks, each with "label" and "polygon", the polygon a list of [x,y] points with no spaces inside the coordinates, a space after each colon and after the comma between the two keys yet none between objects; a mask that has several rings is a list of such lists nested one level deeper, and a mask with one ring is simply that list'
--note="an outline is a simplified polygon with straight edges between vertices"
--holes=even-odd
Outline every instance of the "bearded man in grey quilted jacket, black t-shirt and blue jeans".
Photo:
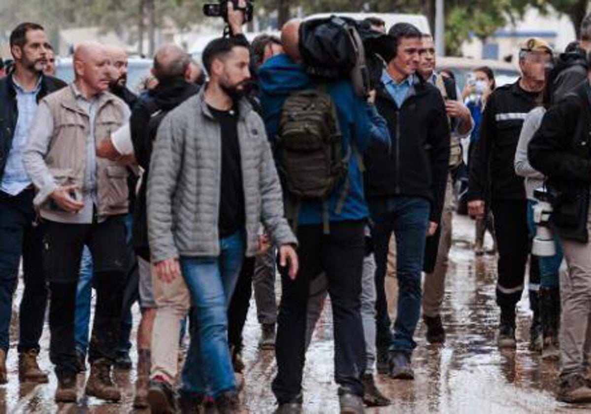
[{"label": "bearded man in grey quilted jacket, black t-shirt and blue jeans", "polygon": [[[279,246],[280,266],[289,266],[295,278],[297,241],[284,218],[264,124],[242,98],[250,79],[248,44],[236,37],[213,40],[203,63],[210,75],[206,88],[158,128],[148,234],[157,277],[172,283],[182,276],[196,309],[186,362],[196,369],[183,374],[181,396],[196,404],[212,396],[218,412],[237,413],[226,308],[242,259],[255,254],[262,222]],[[152,410],[158,393],[170,394],[165,383],[152,378]]]}]

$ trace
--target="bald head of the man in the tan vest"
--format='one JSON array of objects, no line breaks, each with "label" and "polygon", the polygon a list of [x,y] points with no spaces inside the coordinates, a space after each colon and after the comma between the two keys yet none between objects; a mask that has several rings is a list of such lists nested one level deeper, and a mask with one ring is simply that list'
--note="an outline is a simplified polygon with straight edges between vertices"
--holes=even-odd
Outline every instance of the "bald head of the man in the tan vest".
[{"label": "bald head of the man in the tan vest", "polygon": [[80,43],[74,51],[76,85],[87,98],[109,88],[111,60],[105,47],[95,41]]}]

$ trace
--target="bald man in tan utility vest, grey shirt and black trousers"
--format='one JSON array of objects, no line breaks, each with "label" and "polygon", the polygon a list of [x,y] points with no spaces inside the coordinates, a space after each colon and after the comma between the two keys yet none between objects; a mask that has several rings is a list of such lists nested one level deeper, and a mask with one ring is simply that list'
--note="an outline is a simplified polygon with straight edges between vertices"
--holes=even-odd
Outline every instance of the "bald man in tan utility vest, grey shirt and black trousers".
[{"label": "bald man in tan utility vest, grey shirt and black trousers", "polygon": [[74,308],[84,245],[92,253],[97,292],[86,394],[121,398],[111,380],[111,367],[127,260],[127,171],[96,157],[100,141],[129,118],[127,105],[106,92],[111,70],[103,46],[80,44],[74,53],[74,82],[41,101],[23,156],[37,189],[34,204],[44,221],[50,358],[59,380],[56,402],[76,401]]}]

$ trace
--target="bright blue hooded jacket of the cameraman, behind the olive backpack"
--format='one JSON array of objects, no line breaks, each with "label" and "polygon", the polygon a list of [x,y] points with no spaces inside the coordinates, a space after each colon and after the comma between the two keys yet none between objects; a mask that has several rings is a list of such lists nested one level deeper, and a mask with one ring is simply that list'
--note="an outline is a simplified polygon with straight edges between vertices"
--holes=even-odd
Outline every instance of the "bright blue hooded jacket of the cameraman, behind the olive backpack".
[{"label": "bright blue hooded jacket of the cameraman, behind the olive backpack", "polygon": [[[304,89],[317,89],[318,85],[307,75],[301,64],[294,63],[286,54],[279,54],[267,60],[259,68],[259,88],[265,127],[271,145],[277,139],[277,130],[281,110],[285,99],[292,92]],[[372,139],[389,141],[387,124],[373,106],[358,98],[350,82],[329,83],[327,93],[337,107],[340,130],[343,136],[343,150],[355,140],[355,148],[365,151]],[[336,214],[336,205],[342,193],[342,185],[329,197],[330,222],[363,220],[369,215],[363,195],[363,177],[356,157],[349,160],[349,192],[340,214]],[[322,202],[304,202],[299,207],[298,225],[322,224]]]}]

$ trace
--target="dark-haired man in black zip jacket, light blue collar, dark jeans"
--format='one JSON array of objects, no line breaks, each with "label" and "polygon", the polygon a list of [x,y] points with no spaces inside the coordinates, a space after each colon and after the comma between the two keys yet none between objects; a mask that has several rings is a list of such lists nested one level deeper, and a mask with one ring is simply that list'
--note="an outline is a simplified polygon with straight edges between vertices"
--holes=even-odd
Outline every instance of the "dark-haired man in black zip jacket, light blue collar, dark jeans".
[{"label": "dark-haired man in black zip jacket, light blue collar, dark jeans", "polygon": [[[382,75],[376,107],[388,122],[391,140],[374,144],[365,154],[366,196],[374,221],[378,300],[378,355],[389,345],[389,374],[413,379],[410,364],[414,331],[421,313],[421,271],[428,235],[441,218],[450,129],[439,90],[415,75],[421,32],[396,24],[389,36],[397,46]],[[390,331],[384,277],[392,232],[397,244],[398,315]]]}]

